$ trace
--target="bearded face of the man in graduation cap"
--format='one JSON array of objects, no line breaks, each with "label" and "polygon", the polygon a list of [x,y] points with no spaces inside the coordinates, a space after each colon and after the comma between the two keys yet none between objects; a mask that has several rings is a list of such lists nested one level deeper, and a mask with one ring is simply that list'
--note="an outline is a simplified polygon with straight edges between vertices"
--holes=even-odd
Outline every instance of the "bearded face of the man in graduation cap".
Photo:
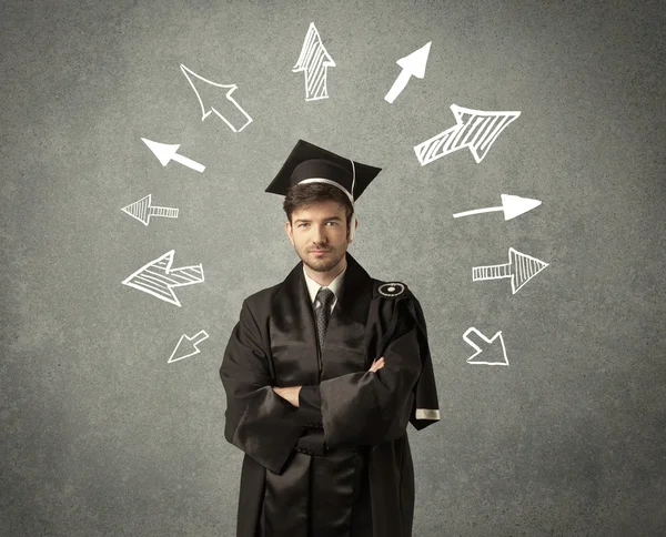
[{"label": "bearded face of the man in graduation cap", "polygon": [[286,233],[306,266],[327,272],[342,261],[351,243],[343,205],[334,201],[315,203],[294,211],[292,222],[286,222]]}]

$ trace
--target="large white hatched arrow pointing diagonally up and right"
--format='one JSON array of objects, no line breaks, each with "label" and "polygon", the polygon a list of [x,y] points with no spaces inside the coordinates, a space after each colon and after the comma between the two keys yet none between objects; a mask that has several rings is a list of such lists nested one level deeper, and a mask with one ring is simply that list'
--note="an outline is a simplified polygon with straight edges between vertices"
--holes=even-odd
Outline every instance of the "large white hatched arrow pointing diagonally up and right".
[{"label": "large white hatched arrow pointing diagonally up and right", "polygon": [[521,112],[484,112],[457,104],[452,104],[451,111],[455,125],[414,146],[422,166],[463,148],[470,148],[480,163],[500,133],[521,115]]}]

